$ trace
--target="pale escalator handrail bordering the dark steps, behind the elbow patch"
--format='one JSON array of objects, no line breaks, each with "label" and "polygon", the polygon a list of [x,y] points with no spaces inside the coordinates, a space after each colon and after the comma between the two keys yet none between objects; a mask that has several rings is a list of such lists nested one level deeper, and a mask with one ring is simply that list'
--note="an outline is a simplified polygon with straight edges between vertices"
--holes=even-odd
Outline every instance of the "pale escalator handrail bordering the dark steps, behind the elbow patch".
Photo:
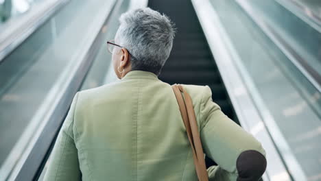
[{"label": "pale escalator handrail bordering the dark steps, behind the elbow patch", "polygon": [[[268,109],[260,105],[258,109],[257,102],[252,98],[253,86],[249,83],[249,79],[242,79],[242,75],[246,74],[239,71],[237,62],[239,56],[233,50],[233,45],[230,43],[226,30],[224,29],[219,15],[213,9],[209,0],[200,3],[197,0],[192,0],[193,7],[203,32],[209,43],[209,47],[215,56],[217,69],[221,74],[224,85],[230,97],[231,103],[235,108],[235,114],[241,123],[243,129],[255,135],[265,147],[268,162],[267,171],[263,175],[263,180],[273,180],[271,178],[275,174],[283,173],[285,178],[292,178],[287,165],[278,149],[276,149],[274,138],[270,135],[268,126],[266,125],[266,114]],[[209,16],[211,14],[211,16]],[[250,88],[248,88],[250,86]],[[257,94],[256,94],[257,95]],[[270,117],[269,117],[270,118]],[[272,119],[272,118],[271,118]],[[273,121],[273,120],[272,120]],[[277,165],[277,169],[274,168]]]}]

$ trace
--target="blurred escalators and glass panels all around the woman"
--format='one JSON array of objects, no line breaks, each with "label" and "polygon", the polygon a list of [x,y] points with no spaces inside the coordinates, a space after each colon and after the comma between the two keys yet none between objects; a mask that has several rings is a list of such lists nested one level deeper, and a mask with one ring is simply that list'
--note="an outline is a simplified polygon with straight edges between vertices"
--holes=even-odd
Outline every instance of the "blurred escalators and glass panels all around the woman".
[{"label": "blurred escalators and glass panels all around the woman", "polygon": [[160,80],[210,86],[263,180],[321,180],[320,0],[0,0],[0,180],[43,179],[75,93],[117,80],[119,16],[147,6],[177,27]]}]

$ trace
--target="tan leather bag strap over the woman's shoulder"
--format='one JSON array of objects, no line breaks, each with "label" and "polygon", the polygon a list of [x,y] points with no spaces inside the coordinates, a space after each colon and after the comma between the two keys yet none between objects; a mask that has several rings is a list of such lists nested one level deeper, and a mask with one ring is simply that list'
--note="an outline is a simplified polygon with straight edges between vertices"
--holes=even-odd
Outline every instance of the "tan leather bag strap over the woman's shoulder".
[{"label": "tan leather bag strap over the woman's shoulder", "polygon": [[[180,84],[174,84],[171,86],[174,90],[178,106],[180,107],[180,114],[185,124],[189,143],[193,152],[193,159],[195,164],[196,173],[198,174],[198,180],[208,181],[204,152],[202,149],[202,143],[200,141],[200,132],[198,132],[198,123],[196,122],[195,112],[193,109],[193,102],[189,94],[182,88]],[[182,97],[185,97],[185,100]]]}]

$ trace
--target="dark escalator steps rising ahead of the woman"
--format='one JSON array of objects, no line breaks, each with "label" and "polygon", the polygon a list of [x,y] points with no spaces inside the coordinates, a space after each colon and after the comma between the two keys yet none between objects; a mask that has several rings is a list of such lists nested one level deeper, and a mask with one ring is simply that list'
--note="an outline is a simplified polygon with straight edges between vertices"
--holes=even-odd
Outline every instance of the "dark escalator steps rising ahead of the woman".
[{"label": "dark escalator steps rising ahead of the woman", "polygon": [[[151,0],[148,6],[176,24],[174,45],[159,79],[168,84],[208,85],[213,101],[239,124],[191,1]],[[206,167],[211,165],[216,164],[206,157]]]}]

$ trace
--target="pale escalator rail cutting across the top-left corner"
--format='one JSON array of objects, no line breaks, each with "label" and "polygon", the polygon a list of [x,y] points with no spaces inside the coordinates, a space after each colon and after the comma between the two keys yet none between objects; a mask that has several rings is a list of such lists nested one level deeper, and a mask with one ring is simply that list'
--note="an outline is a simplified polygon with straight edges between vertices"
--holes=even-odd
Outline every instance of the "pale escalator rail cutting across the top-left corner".
[{"label": "pale escalator rail cutting across the top-left corner", "polygon": [[[43,25],[70,0],[40,1],[32,10],[22,16],[10,19],[1,25],[0,64],[6,56],[16,49],[25,39]],[[36,7],[34,7],[36,6]]]}]

